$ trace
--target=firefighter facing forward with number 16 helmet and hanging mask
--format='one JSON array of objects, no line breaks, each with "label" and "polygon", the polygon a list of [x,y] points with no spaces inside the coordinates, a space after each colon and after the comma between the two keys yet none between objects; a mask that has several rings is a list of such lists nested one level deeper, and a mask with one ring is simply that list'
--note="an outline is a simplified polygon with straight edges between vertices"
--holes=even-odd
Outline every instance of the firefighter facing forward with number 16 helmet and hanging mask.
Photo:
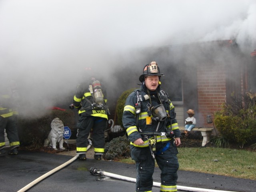
[{"label": "firefighter facing forward with number 16 helmet and hanging mask", "polygon": [[122,122],[136,162],[136,192],[152,191],[155,160],[161,170],[160,191],[177,191],[180,130],[174,106],[160,88],[159,67],[155,61],[143,68],[140,89],[126,99]]}]

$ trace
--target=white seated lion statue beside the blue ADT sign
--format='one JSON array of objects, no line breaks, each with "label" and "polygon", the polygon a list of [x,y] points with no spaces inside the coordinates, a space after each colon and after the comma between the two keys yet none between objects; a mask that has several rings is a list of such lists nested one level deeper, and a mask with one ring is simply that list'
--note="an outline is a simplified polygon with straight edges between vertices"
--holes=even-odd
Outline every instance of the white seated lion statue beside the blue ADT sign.
[{"label": "white seated lion statue beside the blue ADT sign", "polygon": [[59,143],[60,149],[65,149],[63,147],[63,134],[64,134],[64,124],[59,118],[54,118],[51,123],[52,130],[48,134],[48,138],[44,140],[44,146],[52,146],[54,150],[56,148],[57,142]]}]

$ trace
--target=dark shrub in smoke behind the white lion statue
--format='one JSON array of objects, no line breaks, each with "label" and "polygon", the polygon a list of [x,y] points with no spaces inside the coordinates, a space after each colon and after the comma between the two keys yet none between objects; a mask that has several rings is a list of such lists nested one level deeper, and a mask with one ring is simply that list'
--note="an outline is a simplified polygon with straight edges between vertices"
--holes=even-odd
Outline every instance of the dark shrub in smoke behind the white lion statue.
[{"label": "dark shrub in smoke behind the white lion statue", "polygon": [[36,118],[18,118],[18,134],[21,146],[31,145],[33,148],[43,146],[44,140],[51,130],[51,122],[59,118],[64,126],[74,124],[74,112],[71,110],[49,110],[47,114]]}]

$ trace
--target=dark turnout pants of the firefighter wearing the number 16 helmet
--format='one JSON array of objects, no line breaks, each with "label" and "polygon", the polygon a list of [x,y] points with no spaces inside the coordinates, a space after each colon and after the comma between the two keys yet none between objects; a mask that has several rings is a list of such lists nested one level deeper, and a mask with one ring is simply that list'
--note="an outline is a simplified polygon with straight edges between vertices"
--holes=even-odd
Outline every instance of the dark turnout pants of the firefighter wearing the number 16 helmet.
[{"label": "dark turnout pants of the firefighter wearing the number 16 helmet", "polygon": [[[175,144],[172,141],[170,142],[167,150],[155,156],[156,162],[161,170],[160,191],[165,192],[177,191],[176,183],[179,163],[176,155],[178,154],[178,150]],[[162,151],[164,146],[166,146],[166,143],[157,143],[156,151]],[[136,162],[136,192],[151,192],[155,159],[152,158],[149,147],[135,147],[131,145],[131,156]]]}]

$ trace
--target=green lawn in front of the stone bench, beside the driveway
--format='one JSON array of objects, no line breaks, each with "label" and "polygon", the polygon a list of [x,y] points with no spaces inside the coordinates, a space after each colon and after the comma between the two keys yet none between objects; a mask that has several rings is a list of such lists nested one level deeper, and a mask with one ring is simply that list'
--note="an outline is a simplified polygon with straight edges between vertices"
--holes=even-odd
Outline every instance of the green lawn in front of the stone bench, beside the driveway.
[{"label": "green lawn in front of the stone bench, beside the driveway", "polygon": [[[256,180],[256,152],[230,148],[178,148],[179,170]],[[134,163],[133,160],[122,160]]]}]

